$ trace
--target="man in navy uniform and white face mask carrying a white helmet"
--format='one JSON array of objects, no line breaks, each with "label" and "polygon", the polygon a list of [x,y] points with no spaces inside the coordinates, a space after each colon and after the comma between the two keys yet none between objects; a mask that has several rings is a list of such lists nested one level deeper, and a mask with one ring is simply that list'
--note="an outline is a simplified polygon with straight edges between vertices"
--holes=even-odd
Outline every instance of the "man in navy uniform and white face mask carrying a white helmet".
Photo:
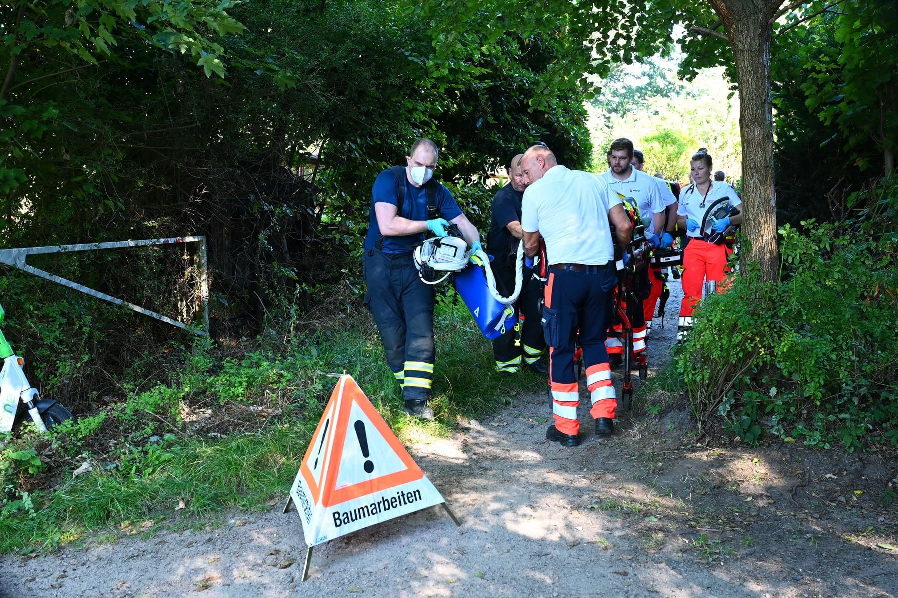
[{"label": "man in navy uniform and white face mask carrying a white helmet", "polygon": [[446,234],[457,224],[472,248],[480,234],[445,186],[434,180],[439,150],[424,138],[412,144],[406,166],[392,167],[374,180],[365,235],[365,305],[380,331],[393,376],[402,386],[403,410],[427,420],[434,378],[434,285],[418,277],[412,253],[431,230]]}]

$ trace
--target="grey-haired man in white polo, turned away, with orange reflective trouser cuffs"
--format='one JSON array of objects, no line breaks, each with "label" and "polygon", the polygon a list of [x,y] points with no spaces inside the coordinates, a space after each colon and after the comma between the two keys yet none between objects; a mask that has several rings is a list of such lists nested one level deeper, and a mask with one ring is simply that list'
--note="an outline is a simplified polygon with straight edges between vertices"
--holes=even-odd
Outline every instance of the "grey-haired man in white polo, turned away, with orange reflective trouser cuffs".
[{"label": "grey-haired man in white polo, turned away, with orange reflective trouser cuffs", "polygon": [[[559,165],[545,144],[533,145],[521,159],[524,247],[533,256],[546,244],[549,280],[542,326],[549,345],[549,382],[555,423],[546,438],[563,446],[580,444],[577,420],[575,344],[583,349],[586,386],[599,436],[614,431],[617,400],[604,339],[611,316],[611,292],[617,283],[614,246],[626,251],[632,225],[621,200],[597,176]],[[626,259],[626,258],[625,258]]]}]

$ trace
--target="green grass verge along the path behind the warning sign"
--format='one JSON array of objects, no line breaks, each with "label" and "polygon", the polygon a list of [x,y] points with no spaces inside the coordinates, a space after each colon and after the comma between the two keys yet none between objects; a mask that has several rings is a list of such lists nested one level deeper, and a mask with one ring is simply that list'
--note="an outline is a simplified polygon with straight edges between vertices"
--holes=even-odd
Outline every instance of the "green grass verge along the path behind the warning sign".
[{"label": "green grass verge along the path behind the warning sign", "polygon": [[[165,412],[171,412],[172,406],[211,404],[216,410],[234,403],[281,409],[283,415],[254,431],[225,438],[207,438],[201,431],[190,436],[184,425],[141,417],[132,403],[154,409],[156,403],[146,394],[135,394],[130,401],[123,397],[118,409],[110,411],[117,414],[122,428],[109,446],[92,444],[100,436],[95,426],[86,435],[90,438],[70,430],[49,440],[33,436],[13,440],[13,448],[31,441],[39,455],[41,446],[48,454],[55,446],[56,454],[67,458],[50,471],[28,477],[21,470],[13,471],[0,454],[0,551],[55,550],[87,538],[107,541],[125,533],[123,526],[131,522],[153,521],[151,530],[163,525],[194,526],[234,507],[269,508],[273,499],[286,497],[293,483],[336,383],[328,373],[345,370],[352,375],[400,438],[448,434],[459,418],[481,416],[510,403],[516,394],[544,389],[542,377],[509,378],[494,371],[490,343],[480,336],[462,305],[441,301],[435,319],[432,402],[437,419],[432,422],[401,412],[400,388],[365,314],[292,339],[286,350],[258,348],[245,360],[216,360],[211,357],[215,352],[210,352],[211,345],[200,345],[163,388],[165,392],[154,391],[151,397],[178,402],[158,407]],[[107,418],[113,419],[113,415]],[[95,466],[73,478],[72,471],[84,460],[75,455],[82,451],[109,467]],[[50,475],[56,476],[55,489],[23,493],[23,481],[43,481],[47,486],[48,479],[40,476]],[[179,509],[181,501],[184,506]]]}]

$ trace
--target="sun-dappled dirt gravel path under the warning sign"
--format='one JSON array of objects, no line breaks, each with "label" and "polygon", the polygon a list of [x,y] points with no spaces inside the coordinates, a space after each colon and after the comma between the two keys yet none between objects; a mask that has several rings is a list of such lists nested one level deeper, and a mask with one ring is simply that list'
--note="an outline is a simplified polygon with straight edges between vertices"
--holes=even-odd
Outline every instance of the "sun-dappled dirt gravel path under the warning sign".
[{"label": "sun-dappled dirt gravel path under the warning sign", "polygon": [[[675,323],[652,333],[656,362]],[[545,395],[409,446],[462,526],[432,507],[369,527],[316,547],[306,582],[299,517],[272,505],[201,531],[7,556],[0,594],[898,595],[895,509],[876,502],[894,460],[701,446],[683,410],[623,417],[600,442],[580,411],[590,433],[576,448],[545,440]]]}]

